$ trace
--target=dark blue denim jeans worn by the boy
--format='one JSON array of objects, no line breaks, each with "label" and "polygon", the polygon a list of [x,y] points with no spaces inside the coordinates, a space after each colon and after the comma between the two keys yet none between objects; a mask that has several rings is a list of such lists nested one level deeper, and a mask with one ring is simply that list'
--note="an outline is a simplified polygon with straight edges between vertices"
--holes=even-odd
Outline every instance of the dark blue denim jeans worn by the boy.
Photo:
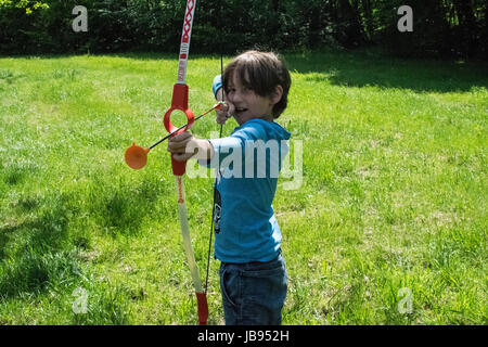
[{"label": "dark blue denim jeans worn by the boy", "polygon": [[280,325],[286,297],[281,255],[267,262],[221,262],[220,291],[227,325]]}]

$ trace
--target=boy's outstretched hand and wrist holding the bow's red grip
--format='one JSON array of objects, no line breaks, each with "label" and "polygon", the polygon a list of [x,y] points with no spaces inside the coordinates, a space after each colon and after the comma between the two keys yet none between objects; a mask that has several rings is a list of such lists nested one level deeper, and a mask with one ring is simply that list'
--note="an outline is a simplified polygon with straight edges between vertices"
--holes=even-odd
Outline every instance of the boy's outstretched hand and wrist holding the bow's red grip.
[{"label": "boy's outstretched hand and wrist holding the bow's red grip", "polygon": [[168,139],[168,152],[174,154],[178,162],[191,158],[207,159],[214,155],[214,147],[206,140],[195,139],[190,132],[183,131]]}]

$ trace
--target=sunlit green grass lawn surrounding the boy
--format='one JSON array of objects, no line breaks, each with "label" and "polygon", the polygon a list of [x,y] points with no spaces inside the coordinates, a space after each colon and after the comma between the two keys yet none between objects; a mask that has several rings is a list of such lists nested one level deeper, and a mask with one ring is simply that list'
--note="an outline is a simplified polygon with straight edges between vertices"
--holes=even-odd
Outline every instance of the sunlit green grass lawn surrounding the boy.
[{"label": "sunlit green grass lawn surrounding the boy", "polygon": [[[487,324],[487,66],[371,52],[286,60],[279,123],[304,141],[304,178],[274,201],[283,323]],[[0,59],[0,324],[196,323],[165,145],[143,170],[124,163],[132,141],[165,133],[177,64]],[[217,57],[191,57],[195,113],[214,104],[219,72]],[[217,130],[209,115],[193,133]],[[188,179],[187,195],[203,278],[211,179]],[[210,324],[223,323],[218,267]],[[87,313],[73,310],[77,288]]]}]

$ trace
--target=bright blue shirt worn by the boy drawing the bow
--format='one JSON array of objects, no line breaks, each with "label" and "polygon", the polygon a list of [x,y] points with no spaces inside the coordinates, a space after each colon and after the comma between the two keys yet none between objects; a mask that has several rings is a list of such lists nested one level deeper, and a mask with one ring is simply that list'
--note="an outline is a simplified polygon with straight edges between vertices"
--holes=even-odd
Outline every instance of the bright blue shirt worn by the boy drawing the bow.
[{"label": "bright blue shirt worn by the boy drawing the bow", "polygon": [[272,202],[288,139],[279,124],[252,119],[228,138],[209,140],[215,154],[201,164],[220,166],[214,213],[217,259],[242,264],[278,256],[281,231]]}]

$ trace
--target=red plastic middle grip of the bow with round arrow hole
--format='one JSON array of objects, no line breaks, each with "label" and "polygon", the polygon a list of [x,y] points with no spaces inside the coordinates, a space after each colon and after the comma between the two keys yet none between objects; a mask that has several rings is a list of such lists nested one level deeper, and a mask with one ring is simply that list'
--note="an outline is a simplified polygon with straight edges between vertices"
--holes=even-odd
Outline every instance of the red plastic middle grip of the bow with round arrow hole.
[{"label": "red plastic middle grip of the bow with round arrow hole", "polygon": [[[195,123],[195,116],[193,115],[193,111],[188,108],[188,86],[187,85],[175,85],[172,87],[172,100],[171,100],[171,107],[166,112],[165,117],[163,119],[163,123],[165,125],[165,128],[168,132],[172,132],[177,130],[178,128],[175,127],[171,124],[171,113],[175,110],[180,110],[184,112],[187,115],[187,126],[177,131],[175,134],[181,133],[183,131],[189,130],[193,124]],[[187,160],[185,162],[178,162],[174,158],[174,154],[171,154],[171,167],[172,167],[172,174],[176,176],[183,176],[187,171]]]}]

